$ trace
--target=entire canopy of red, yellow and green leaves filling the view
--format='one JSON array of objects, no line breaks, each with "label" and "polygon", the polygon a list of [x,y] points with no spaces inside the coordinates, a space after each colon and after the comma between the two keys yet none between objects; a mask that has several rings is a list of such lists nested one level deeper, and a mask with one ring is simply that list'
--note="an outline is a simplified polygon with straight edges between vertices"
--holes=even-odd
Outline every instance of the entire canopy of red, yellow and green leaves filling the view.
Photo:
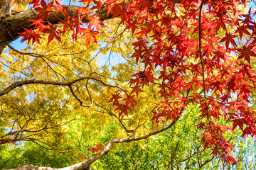
[{"label": "entire canopy of red, yellow and green leaves filling the view", "polygon": [[133,164],[120,169],[239,167],[238,134],[256,134],[252,2],[80,3],[70,11],[65,1],[13,2],[36,16],[19,33],[28,47],[1,54],[0,144],[78,152],[45,165],[23,153],[38,166],[116,168],[125,154]]}]

